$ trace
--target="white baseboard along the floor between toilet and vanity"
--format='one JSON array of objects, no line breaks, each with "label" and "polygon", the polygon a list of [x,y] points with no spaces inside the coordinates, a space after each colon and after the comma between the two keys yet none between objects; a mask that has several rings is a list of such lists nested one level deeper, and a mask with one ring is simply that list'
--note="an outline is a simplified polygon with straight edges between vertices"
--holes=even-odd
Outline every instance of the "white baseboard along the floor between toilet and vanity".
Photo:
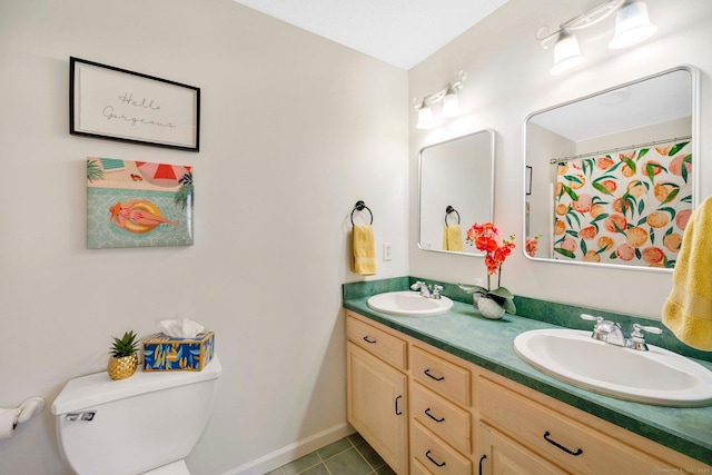
[{"label": "white baseboard along the floor between toilet and vanity", "polygon": [[355,432],[356,431],[350,426],[350,424],[342,423],[307,438],[295,442],[294,444],[289,444],[286,447],[259,457],[253,462],[248,462],[247,464],[228,471],[222,475],[264,475],[336,441],[340,441]]}]

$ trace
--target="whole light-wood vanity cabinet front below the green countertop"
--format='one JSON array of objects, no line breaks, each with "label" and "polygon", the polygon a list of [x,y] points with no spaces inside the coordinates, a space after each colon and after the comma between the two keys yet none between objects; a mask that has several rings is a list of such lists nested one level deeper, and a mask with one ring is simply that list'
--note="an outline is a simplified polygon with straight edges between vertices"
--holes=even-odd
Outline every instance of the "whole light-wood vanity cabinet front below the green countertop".
[{"label": "whole light-wood vanity cabinet front below the green countertop", "polygon": [[346,319],[348,420],[397,474],[712,473],[366,317]]}]

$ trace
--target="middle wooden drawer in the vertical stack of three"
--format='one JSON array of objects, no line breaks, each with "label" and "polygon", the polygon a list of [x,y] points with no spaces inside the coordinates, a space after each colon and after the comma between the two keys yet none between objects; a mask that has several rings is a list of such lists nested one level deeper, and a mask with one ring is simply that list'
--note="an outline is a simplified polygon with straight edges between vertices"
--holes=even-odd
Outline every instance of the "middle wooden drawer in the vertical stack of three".
[{"label": "middle wooden drawer in the vertical stack of three", "polygon": [[469,413],[417,382],[411,384],[411,415],[463,454],[472,452]]}]

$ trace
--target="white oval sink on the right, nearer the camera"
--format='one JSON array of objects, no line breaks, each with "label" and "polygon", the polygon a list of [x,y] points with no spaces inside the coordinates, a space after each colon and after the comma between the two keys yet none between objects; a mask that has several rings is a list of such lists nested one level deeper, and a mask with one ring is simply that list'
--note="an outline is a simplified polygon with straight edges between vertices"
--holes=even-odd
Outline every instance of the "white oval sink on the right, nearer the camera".
[{"label": "white oval sink on the right, nearer the camera", "polygon": [[684,356],[647,345],[647,352],[591,338],[591,331],[542,329],[514,339],[524,362],[594,393],[661,406],[712,404],[712,372]]}]

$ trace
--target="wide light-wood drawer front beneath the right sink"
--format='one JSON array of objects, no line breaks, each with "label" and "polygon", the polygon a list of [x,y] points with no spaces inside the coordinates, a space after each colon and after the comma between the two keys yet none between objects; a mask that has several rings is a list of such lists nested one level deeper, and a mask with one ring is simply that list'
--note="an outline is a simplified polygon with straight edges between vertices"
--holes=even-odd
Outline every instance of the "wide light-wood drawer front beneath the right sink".
[{"label": "wide light-wood drawer front beneath the right sink", "polygon": [[488,379],[478,382],[479,416],[577,474],[651,474],[672,468]]}]

